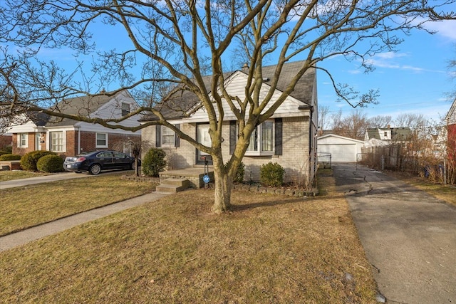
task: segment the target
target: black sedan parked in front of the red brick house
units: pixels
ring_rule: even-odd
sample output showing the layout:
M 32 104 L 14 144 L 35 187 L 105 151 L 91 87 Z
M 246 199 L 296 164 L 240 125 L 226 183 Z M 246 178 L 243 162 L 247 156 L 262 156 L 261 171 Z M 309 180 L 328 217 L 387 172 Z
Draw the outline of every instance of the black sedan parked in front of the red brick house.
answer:
M 138 166 L 140 160 L 138 159 Z M 90 174 L 99 174 L 101 170 L 108 169 L 135 169 L 135 158 L 125 153 L 103 150 L 80 154 L 75 157 L 66 157 L 63 162 L 66 171 L 81 173 L 88 171 Z

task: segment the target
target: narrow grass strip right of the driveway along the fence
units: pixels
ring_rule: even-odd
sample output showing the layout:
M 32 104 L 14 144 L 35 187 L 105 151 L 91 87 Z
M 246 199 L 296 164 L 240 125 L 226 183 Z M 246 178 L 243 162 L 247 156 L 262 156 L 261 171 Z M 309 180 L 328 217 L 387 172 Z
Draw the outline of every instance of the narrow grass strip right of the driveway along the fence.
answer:
M 456 187 L 450 184 L 435 184 L 429 180 L 403 172 L 384 172 L 392 177 L 402 180 L 407 184 L 435 196 L 437 199 L 456 205 Z

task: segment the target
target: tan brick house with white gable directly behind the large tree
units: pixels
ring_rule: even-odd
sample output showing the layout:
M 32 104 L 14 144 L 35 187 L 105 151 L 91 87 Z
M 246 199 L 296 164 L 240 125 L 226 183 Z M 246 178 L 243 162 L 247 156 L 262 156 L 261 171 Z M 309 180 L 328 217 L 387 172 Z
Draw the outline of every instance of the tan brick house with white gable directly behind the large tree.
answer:
M 286 63 L 280 75 L 277 85 L 283 90 L 289 80 L 296 75 L 302 62 Z M 264 90 L 268 90 L 268 81 L 274 76 L 275 65 L 263 68 Z M 207 77 L 204 80 L 209 80 Z M 247 74 L 242 70 L 227 75 L 225 78 L 226 88 L 230 95 L 243 98 Z M 206 83 L 210 90 L 210 83 Z M 189 103 L 193 100 L 193 104 Z M 186 114 L 167 111 L 165 108 L 162 114 L 168 121 L 180 127 L 182 132 L 192 136 L 200 143 L 210 146 L 208 134 L 209 123 L 204 108 L 197 108 L 195 96 L 185 92 L 182 97 L 176 98 L 175 105 L 182 102 L 182 108 L 189 109 Z M 228 159 L 234 151 L 237 140 L 237 120 L 232 110 L 225 103 L 222 144 L 224 159 Z M 244 179 L 254 182 L 259 181 L 259 169 L 262 164 L 277 162 L 286 170 L 285 182 L 308 184 L 314 179 L 316 172 L 316 132 L 317 123 L 317 95 L 316 95 L 316 70 L 308 70 L 293 93 L 275 111 L 274 115 L 257 127 L 257 132 L 252 135 L 251 145 L 247 150 L 242 162 L 245 165 Z M 155 115 L 145 115 L 140 121 L 147 122 L 157 120 Z M 202 152 L 190 145 L 185 140 L 180 140 L 167 127 L 150 126 L 142 130 L 142 142 L 148 142 L 151 147 L 160 147 L 165 150 L 168 157 L 168 169 L 183 169 L 195 165 L 204 164 Z

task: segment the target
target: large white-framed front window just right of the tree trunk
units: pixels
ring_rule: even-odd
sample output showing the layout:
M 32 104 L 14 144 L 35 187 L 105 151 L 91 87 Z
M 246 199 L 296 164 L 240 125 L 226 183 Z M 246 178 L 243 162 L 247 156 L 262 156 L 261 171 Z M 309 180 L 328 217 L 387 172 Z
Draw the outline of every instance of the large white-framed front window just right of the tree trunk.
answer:
M 274 152 L 274 122 L 266 121 L 257 126 L 250 136 L 247 155 L 271 154 Z

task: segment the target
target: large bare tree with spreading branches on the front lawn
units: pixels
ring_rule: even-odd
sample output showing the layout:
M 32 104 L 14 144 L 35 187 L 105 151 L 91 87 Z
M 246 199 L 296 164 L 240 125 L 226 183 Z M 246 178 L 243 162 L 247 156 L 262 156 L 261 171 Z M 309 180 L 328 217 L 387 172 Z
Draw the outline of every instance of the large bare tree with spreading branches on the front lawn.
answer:
M 353 107 L 375 103 L 375 90 L 353 90 L 338 83 L 330 70 L 317 64 L 333 56 L 345 56 L 348 60 L 359 60 L 363 68 L 371 70 L 368 56 L 394 51 L 403 41 L 403 33 L 423 28 L 429 20 L 455 19 L 455 13 L 445 12 L 454 2 L 3 0 L 1 115 L 35 110 L 132 131 L 150 125 L 169 127 L 198 150 L 212 155 L 216 182 L 212 209 L 222 212 L 230 207 L 232 179 L 255 126 L 274 114 L 306 70 L 318 68 L 327 73 L 339 98 Z M 105 26 L 106 31 L 115 28 L 115 35 L 128 37 L 130 43 L 100 51 L 93 32 L 95 23 Z M 6 46 L 13 46 L 11 49 L 19 53 L 6 52 Z M 71 71 L 62 70 L 52 61 L 38 60 L 41 53 L 63 46 L 71 48 L 76 56 L 93 56 L 93 74 L 88 74 L 82 60 L 80 69 Z M 243 99 L 229 95 L 225 88 L 224 64 L 234 51 L 239 61 L 249 65 Z M 275 95 L 284 64 L 303 58 L 296 75 L 287 80 L 286 89 Z M 269 61 L 276 63 L 274 78 L 268 83 L 269 91 L 260 94 L 261 70 Z M 138 65 L 142 66 L 141 73 L 135 72 Z M 78 71 L 83 80 L 74 77 Z M 211 75 L 209 90 L 204 75 Z M 145 103 L 125 117 L 105 120 L 66 115 L 50 107 L 73 95 L 100 94 L 100 88 L 113 83 L 120 83 L 121 88 L 102 94 L 137 88 L 147 93 Z M 162 114 L 165 107 L 188 110 L 180 109 L 167 98 L 173 95 L 168 93 L 177 91 L 197 96 L 195 106 L 203 107 L 207 113 L 210 147 L 195 141 Z M 226 114 L 222 104 L 229 105 L 239 125 L 237 145 L 229 159 L 222 156 Z M 137 127 L 120 125 L 145 110 L 158 119 Z

